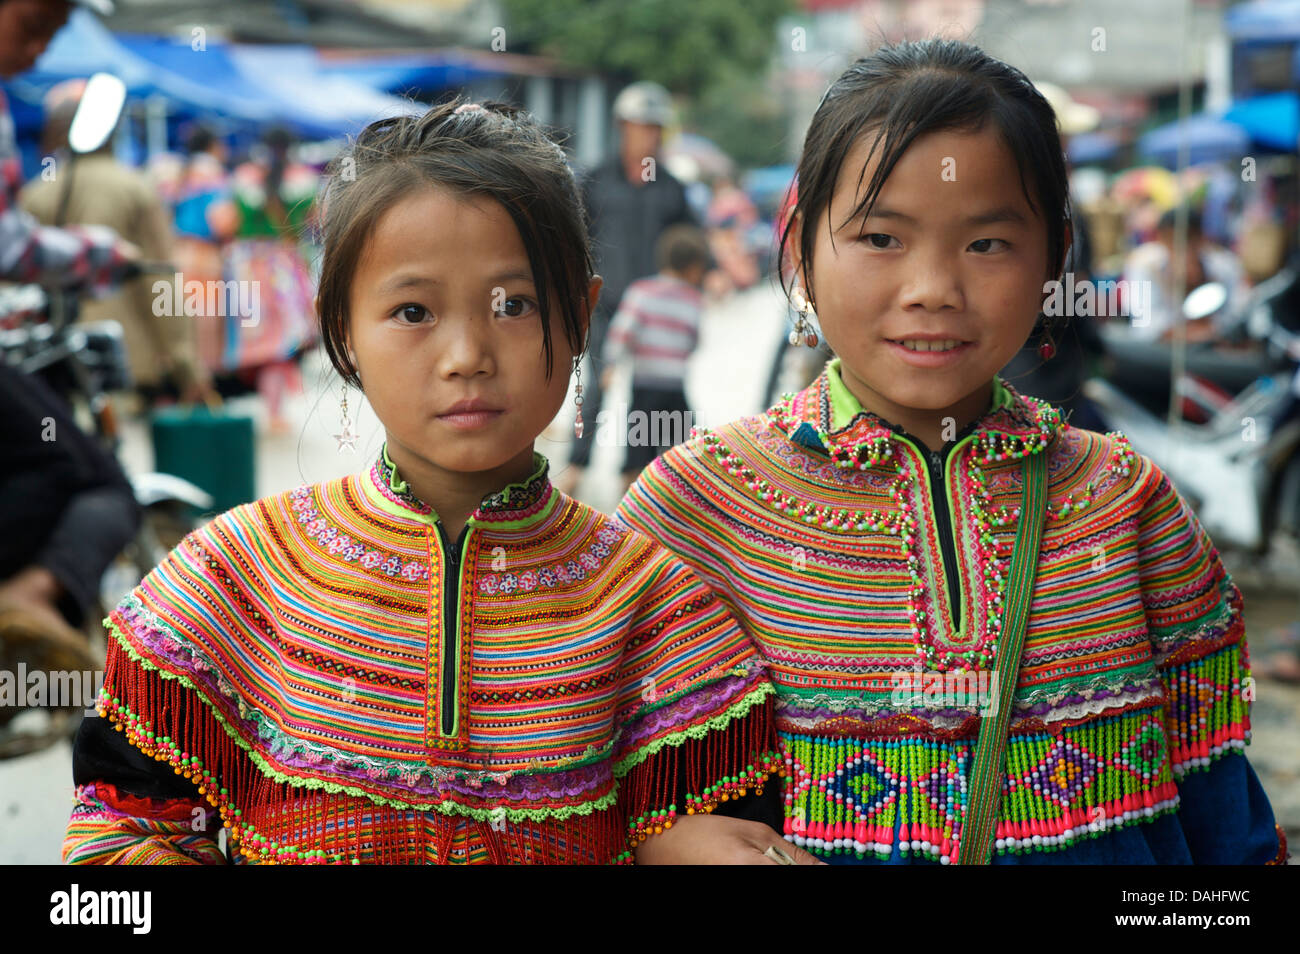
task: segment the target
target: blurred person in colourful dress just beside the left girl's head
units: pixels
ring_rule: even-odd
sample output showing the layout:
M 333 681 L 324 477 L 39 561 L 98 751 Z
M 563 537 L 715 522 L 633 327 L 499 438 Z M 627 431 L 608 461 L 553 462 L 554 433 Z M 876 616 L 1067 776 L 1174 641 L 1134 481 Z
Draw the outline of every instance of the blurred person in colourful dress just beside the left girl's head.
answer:
M 302 354 L 316 343 L 311 270 L 299 243 L 316 198 L 317 175 L 289 157 L 292 136 L 270 129 L 265 155 L 231 177 L 235 239 L 226 248 L 226 278 L 257 290 L 259 313 L 228 318 L 228 364 L 252 370 L 266 404 L 269 432 L 285 434 L 285 395 L 300 394 Z

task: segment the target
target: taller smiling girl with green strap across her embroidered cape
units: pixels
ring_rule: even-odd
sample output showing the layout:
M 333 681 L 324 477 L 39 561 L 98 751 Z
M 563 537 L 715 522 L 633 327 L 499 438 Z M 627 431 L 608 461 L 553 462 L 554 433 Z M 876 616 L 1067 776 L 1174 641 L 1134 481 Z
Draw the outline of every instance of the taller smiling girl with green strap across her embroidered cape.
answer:
M 776 682 L 784 792 L 725 811 L 831 863 L 1282 862 L 1214 545 L 1121 433 L 998 376 L 1070 244 L 1052 108 L 972 45 L 885 47 L 797 182 L 789 291 L 836 357 L 619 508 Z

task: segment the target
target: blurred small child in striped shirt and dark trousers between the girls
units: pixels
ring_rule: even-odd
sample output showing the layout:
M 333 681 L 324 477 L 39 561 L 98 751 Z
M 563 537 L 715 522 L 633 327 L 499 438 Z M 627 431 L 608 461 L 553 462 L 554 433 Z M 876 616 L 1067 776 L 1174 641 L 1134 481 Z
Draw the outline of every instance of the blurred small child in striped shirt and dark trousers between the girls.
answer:
M 604 361 L 615 365 L 632 359 L 629 438 L 623 459 L 627 493 L 646 464 L 679 445 L 690 433 L 686 403 L 686 363 L 699 344 L 701 289 L 712 266 L 708 239 L 693 225 L 675 225 L 655 243 L 659 273 L 638 278 L 623 292 L 619 311 L 604 341 Z M 607 369 L 608 370 L 608 369 Z M 633 422 L 662 422 L 644 429 L 633 441 Z

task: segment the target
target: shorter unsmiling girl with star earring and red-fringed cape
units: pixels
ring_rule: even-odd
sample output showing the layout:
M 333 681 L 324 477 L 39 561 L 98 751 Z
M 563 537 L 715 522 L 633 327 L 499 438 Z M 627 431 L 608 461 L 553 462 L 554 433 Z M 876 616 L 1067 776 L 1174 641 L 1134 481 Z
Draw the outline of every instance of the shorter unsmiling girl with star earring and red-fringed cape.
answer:
M 601 289 L 563 151 L 448 103 L 332 172 L 321 330 L 384 446 L 113 611 L 65 858 L 220 863 L 224 823 L 252 863 L 815 863 L 711 815 L 780 767 L 736 620 L 533 450 Z

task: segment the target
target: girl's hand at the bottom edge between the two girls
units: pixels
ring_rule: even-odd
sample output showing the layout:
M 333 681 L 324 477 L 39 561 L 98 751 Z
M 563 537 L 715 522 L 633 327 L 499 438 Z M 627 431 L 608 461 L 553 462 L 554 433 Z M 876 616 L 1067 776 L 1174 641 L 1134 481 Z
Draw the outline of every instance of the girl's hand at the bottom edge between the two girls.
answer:
M 672 828 L 646 838 L 636 850 L 637 864 L 781 864 L 763 854 L 784 851 L 796 864 L 824 864 L 796 847 L 762 821 L 723 815 L 679 816 Z

